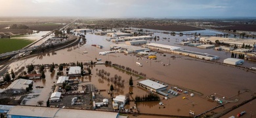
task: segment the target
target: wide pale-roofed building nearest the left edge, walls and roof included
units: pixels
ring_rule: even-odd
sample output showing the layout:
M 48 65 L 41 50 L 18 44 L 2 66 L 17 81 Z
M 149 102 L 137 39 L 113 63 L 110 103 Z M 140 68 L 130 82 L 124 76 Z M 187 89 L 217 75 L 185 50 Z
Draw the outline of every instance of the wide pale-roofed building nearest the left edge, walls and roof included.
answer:
M 28 79 L 16 79 L 7 87 L 7 90 L 4 92 L 6 93 L 20 93 L 20 92 L 26 92 L 26 88 L 28 85 L 33 85 L 32 80 Z

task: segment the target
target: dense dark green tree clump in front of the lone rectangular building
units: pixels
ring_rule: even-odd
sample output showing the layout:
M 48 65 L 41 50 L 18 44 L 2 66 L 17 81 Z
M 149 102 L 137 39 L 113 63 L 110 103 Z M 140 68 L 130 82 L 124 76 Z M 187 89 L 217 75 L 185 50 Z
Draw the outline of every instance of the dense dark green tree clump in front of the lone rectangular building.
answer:
M 135 96 L 135 102 L 143 101 L 160 101 L 160 97 L 156 94 L 150 93 L 143 96 Z

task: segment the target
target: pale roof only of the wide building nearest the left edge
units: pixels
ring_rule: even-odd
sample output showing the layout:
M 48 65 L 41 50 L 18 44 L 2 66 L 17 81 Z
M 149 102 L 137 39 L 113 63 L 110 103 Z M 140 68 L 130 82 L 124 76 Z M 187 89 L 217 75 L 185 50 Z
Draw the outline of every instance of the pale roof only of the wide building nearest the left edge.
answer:
M 7 87 L 7 89 L 26 89 L 26 87 L 28 87 L 28 85 L 31 83 L 33 83 L 32 80 L 16 79 L 11 83 L 11 85 L 9 85 L 9 87 Z

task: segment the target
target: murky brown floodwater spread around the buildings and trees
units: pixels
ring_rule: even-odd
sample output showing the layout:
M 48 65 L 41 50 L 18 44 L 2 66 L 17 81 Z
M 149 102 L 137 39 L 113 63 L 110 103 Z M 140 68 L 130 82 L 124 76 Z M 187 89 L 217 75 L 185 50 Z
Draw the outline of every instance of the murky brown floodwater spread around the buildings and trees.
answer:
M 217 60 L 217 62 L 223 62 L 224 58 L 228 58 L 231 55 L 230 53 L 223 51 L 212 49 L 197 49 L 195 47 L 178 45 L 182 39 L 187 39 L 190 36 L 171 36 L 163 33 L 154 33 L 154 35 L 159 35 L 160 40 L 152 40 L 149 42 L 174 45 L 177 47 L 182 47 L 186 50 L 194 50 L 221 56 L 221 60 Z M 163 37 L 167 37 L 167 39 L 163 39 Z M 179 87 L 195 90 L 203 94 L 203 96 L 195 97 L 185 95 L 188 97 L 186 100 L 182 100 L 182 96 L 184 96 L 184 94 L 176 98 L 172 98 L 171 100 L 163 100 L 163 104 L 166 104 L 165 108 L 161 108 L 158 102 L 139 103 L 138 108 L 143 113 L 188 115 L 188 110 L 192 109 L 199 114 L 216 106 L 215 103 L 207 102 L 205 96 L 217 93 L 230 97 L 234 96 L 234 94 L 237 94 L 238 90 L 248 89 L 253 92 L 256 91 L 255 71 L 246 71 L 244 69 L 223 66 L 214 62 L 205 62 L 204 60 L 198 60 L 179 54 L 165 54 L 166 56 L 163 56 L 163 54 L 157 54 L 157 60 L 148 60 L 146 58 L 137 60 L 137 57 L 133 56 L 133 54 L 125 55 L 116 53 L 107 54 L 106 56 L 98 55 L 98 52 L 109 50 L 110 45 L 114 44 L 112 42 L 106 41 L 106 38 L 109 37 L 87 33 L 87 42 L 81 47 L 77 45 L 75 47 L 58 50 L 55 51 L 56 54 L 55 52 L 41 53 L 38 56 L 33 56 L 31 58 L 26 58 L 24 60 L 14 62 L 10 66 L 13 69 L 17 69 L 17 66 L 26 66 L 28 64 L 52 64 L 53 62 L 54 64 L 62 64 L 77 61 L 87 62 L 90 60 L 95 60 L 96 58 L 101 58 L 102 62 L 110 60 L 112 61 L 112 64 L 120 64 L 122 66 L 135 69 L 139 72 L 146 73 L 147 78 L 158 79 L 159 81 L 167 83 L 168 85 L 177 85 Z M 92 47 L 91 45 L 93 44 L 102 45 L 104 48 L 98 49 L 96 47 Z M 83 54 L 83 51 L 87 51 L 88 53 Z M 176 58 L 170 58 L 171 56 L 176 56 Z M 140 62 L 143 66 L 137 66 L 135 64 L 136 62 Z M 163 66 L 163 64 L 170 64 L 170 66 Z M 249 67 L 253 64 L 255 65 L 256 63 L 248 62 L 245 60 L 244 66 Z M 100 90 L 109 90 L 111 82 L 108 82 L 107 79 L 102 79 L 96 75 L 96 69 L 104 69 L 105 71 L 110 72 L 110 77 L 114 77 L 114 75 L 117 74 L 120 75 L 123 80 L 125 80 L 125 87 L 114 87 L 117 90 L 116 94 L 126 94 L 132 90 L 134 93 L 132 96 L 135 98 L 137 95 L 142 96 L 143 94 L 147 93 L 146 90 L 142 90 L 141 88 L 136 87 L 137 81 L 140 81 L 141 79 L 137 80 L 135 76 L 133 76 L 133 80 L 136 80 L 133 84 L 135 87 L 129 88 L 129 77 L 131 75 L 127 75 L 123 71 L 119 71 L 104 65 L 96 65 L 91 69 L 93 75 L 91 75 L 91 77 L 85 77 L 84 79 L 81 79 L 81 81 L 83 81 L 81 85 L 93 84 Z M 47 71 L 49 71 L 49 69 L 47 69 Z M 56 79 L 54 79 L 54 75 L 49 76 L 50 73 L 46 73 L 46 75 L 47 79 L 45 79 L 44 82 L 43 80 L 35 82 L 35 84 L 43 85 L 43 87 L 45 87 L 41 92 L 38 90 L 38 92 L 41 94 L 39 96 L 40 100 L 45 100 L 45 98 L 49 97 L 51 86 L 54 85 L 53 81 L 56 81 Z M 103 94 L 103 96 L 106 98 L 110 98 L 107 92 L 102 92 L 101 94 Z M 28 102 L 28 104 L 32 105 L 35 105 L 34 103 L 35 101 Z

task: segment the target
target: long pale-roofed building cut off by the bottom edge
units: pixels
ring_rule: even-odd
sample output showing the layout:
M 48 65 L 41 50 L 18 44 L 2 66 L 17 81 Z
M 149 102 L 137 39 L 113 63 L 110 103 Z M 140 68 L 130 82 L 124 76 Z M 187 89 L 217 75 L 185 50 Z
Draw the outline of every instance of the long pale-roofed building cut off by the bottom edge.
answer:
M 63 108 L 45 108 L 45 107 L 35 107 L 35 106 L 15 106 L 7 113 L 8 118 L 51 118 L 51 117 L 61 117 L 61 118 L 119 118 L 119 113 L 111 111 L 92 111 L 83 109 L 63 109 Z

